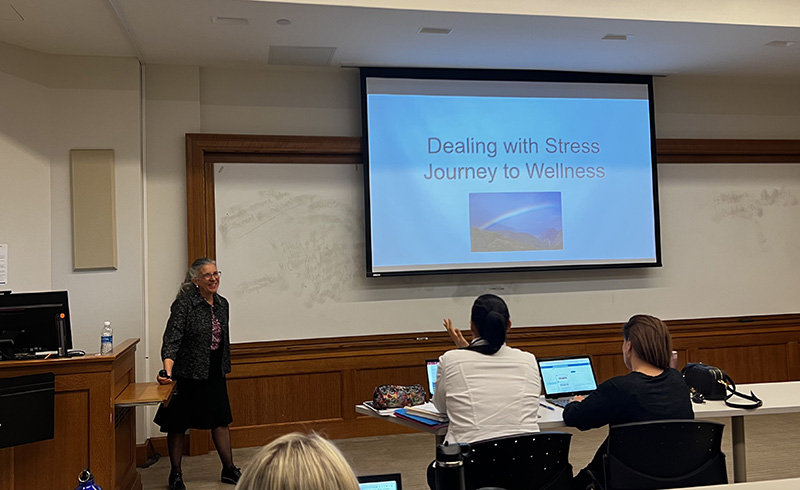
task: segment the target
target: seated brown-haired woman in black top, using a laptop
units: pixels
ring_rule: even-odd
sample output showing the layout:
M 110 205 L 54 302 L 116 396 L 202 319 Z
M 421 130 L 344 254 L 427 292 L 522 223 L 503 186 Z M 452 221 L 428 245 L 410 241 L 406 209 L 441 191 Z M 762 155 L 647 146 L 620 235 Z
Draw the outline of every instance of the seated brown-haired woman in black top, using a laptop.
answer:
M 580 430 L 647 420 L 693 419 L 689 388 L 680 372 L 669 367 L 672 339 L 658 318 L 635 315 L 622 327 L 622 358 L 631 370 L 608 379 L 586 397 L 576 396 L 564 407 L 564 423 Z M 573 480 L 585 489 L 604 481 L 603 454 L 608 439 Z

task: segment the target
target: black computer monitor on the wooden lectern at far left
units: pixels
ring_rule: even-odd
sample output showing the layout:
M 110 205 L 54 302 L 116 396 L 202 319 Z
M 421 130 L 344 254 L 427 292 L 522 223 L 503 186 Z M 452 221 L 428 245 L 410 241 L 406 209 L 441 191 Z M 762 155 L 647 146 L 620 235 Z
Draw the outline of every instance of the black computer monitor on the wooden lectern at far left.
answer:
M 72 348 L 66 291 L 0 294 L 0 348 L 6 353 L 59 350 L 56 319 L 64 314 L 64 352 Z

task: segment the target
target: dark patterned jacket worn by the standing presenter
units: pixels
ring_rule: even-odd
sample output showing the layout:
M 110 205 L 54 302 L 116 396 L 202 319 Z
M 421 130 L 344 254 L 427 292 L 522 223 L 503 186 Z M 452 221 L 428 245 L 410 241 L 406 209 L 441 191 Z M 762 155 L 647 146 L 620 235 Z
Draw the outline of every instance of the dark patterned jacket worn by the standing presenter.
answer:
M 181 293 L 170 307 L 161 359 L 172 359 L 173 378 L 208 379 L 211 364 L 211 305 L 196 288 Z M 214 293 L 214 316 L 222 328 L 222 374 L 231 372 L 228 300 Z

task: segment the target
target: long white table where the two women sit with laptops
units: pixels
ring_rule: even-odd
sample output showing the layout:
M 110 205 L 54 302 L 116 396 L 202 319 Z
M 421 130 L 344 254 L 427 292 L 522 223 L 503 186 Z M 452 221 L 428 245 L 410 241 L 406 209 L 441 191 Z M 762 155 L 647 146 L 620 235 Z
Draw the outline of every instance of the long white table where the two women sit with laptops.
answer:
M 734 482 L 747 481 L 747 461 L 745 447 L 745 417 L 756 415 L 773 415 L 781 413 L 800 412 L 800 381 L 786 381 L 779 383 L 753 383 L 737 385 L 739 392 L 749 394 L 752 390 L 764 404 L 754 410 L 732 408 L 725 405 L 722 400 L 706 401 L 703 404 L 693 403 L 695 418 L 707 419 L 718 417 L 731 418 L 731 439 L 733 441 L 733 480 Z M 746 400 L 737 399 L 735 402 L 746 403 Z M 558 429 L 565 427 L 562 418 L 563 410 L 560 407 L 543 403 L 539 407 L 539 428 L 542 430 Z M 552 409 L 552 410 L 551 410 Z M 356 405 L 356 412 L 377 417 L 387 422 L 412 427 L 423 432 L 430 432 L 436 436 L 436 443 L 441 444 L 447 435 L 447 427 L 428 429 L 421 424 L 410 422 L 394 415 L 380 415 L 363 405 Z

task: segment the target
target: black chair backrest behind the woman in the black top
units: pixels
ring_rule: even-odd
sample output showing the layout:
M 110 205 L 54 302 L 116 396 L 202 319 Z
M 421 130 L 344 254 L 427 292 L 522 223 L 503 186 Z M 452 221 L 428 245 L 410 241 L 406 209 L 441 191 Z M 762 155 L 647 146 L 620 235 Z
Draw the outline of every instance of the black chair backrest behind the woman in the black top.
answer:
M 604 456 L 606 490 L 682 488 L 728 483 L 722 430 L 707 420 L 614 425 Z

